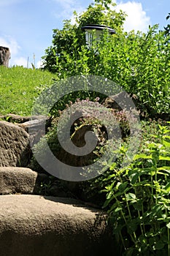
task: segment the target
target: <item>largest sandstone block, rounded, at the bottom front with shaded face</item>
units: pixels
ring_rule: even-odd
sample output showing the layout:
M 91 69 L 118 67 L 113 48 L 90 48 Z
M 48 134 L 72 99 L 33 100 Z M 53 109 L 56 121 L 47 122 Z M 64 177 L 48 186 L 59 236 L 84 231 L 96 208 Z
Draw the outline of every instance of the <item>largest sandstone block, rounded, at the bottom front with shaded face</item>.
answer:
M 118 255 L 106 214 L 77 200 L 0 196 L 1 256 Z

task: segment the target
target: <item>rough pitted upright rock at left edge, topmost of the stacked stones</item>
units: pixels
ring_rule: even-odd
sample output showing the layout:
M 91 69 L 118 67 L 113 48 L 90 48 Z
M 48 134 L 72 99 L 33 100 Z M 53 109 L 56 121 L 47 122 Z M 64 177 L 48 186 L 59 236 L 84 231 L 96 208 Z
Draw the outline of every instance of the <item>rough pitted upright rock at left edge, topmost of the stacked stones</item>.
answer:
M 24 129 L 0 121 L 0 166 L 26 167 L 31 156 L 28 138 Z

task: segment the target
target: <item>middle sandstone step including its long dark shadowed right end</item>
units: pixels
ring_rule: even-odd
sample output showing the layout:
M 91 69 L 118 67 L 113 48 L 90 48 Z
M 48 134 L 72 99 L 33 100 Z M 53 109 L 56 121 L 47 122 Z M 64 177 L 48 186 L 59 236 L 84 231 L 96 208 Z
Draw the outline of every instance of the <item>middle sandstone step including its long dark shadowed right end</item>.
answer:
M 45 173 L 36 173 L 27 167 L 0 167 L 0 195 L 52 195 L 73 197 L 69 187 L 51 180 Z M 1 254 L 0 254 L 1 255 Z

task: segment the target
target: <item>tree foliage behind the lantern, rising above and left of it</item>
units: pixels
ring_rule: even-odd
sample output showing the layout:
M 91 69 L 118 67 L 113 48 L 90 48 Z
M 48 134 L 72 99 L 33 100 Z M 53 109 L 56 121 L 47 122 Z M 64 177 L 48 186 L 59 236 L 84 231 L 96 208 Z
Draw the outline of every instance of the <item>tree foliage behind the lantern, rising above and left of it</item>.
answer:
M 58 72 L 60 66 L 64 67 L 69 57 L 80 58 L 78 52 L 82 51 L 85 45 L 85 34 L 81 30 L 87 24 L 104 24 L 115 30 L 120 30 L 125 20 L 123 12 L 116 12 L 112 7 L 112 1 L 98 0 L 95 4 L 90 4 L 85 12 L 74 12 L 75 23 L 71 20 L 63 20 L 63 29 L 53 29 L 52 45 L 45 50 L 45 69 L 51 72 Z M 113 10 L 112 10 L 113 9 Z

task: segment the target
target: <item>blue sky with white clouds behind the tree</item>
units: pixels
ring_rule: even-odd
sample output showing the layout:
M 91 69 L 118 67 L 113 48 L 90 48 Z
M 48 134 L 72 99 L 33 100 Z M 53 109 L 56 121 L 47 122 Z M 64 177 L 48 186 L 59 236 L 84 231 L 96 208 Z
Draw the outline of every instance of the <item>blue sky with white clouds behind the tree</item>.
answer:
M 53 29 L 62 29 L 74 10 L 84 11 L 93 0 L 0 0 L 0 45 L 10 48 L 9 66 L 39 67 L 52 44 Z M 125 30 L 147 31 L 149 25 L 166 26 L 169 0 L 117 0 L 117 10 L 127 12 Z

